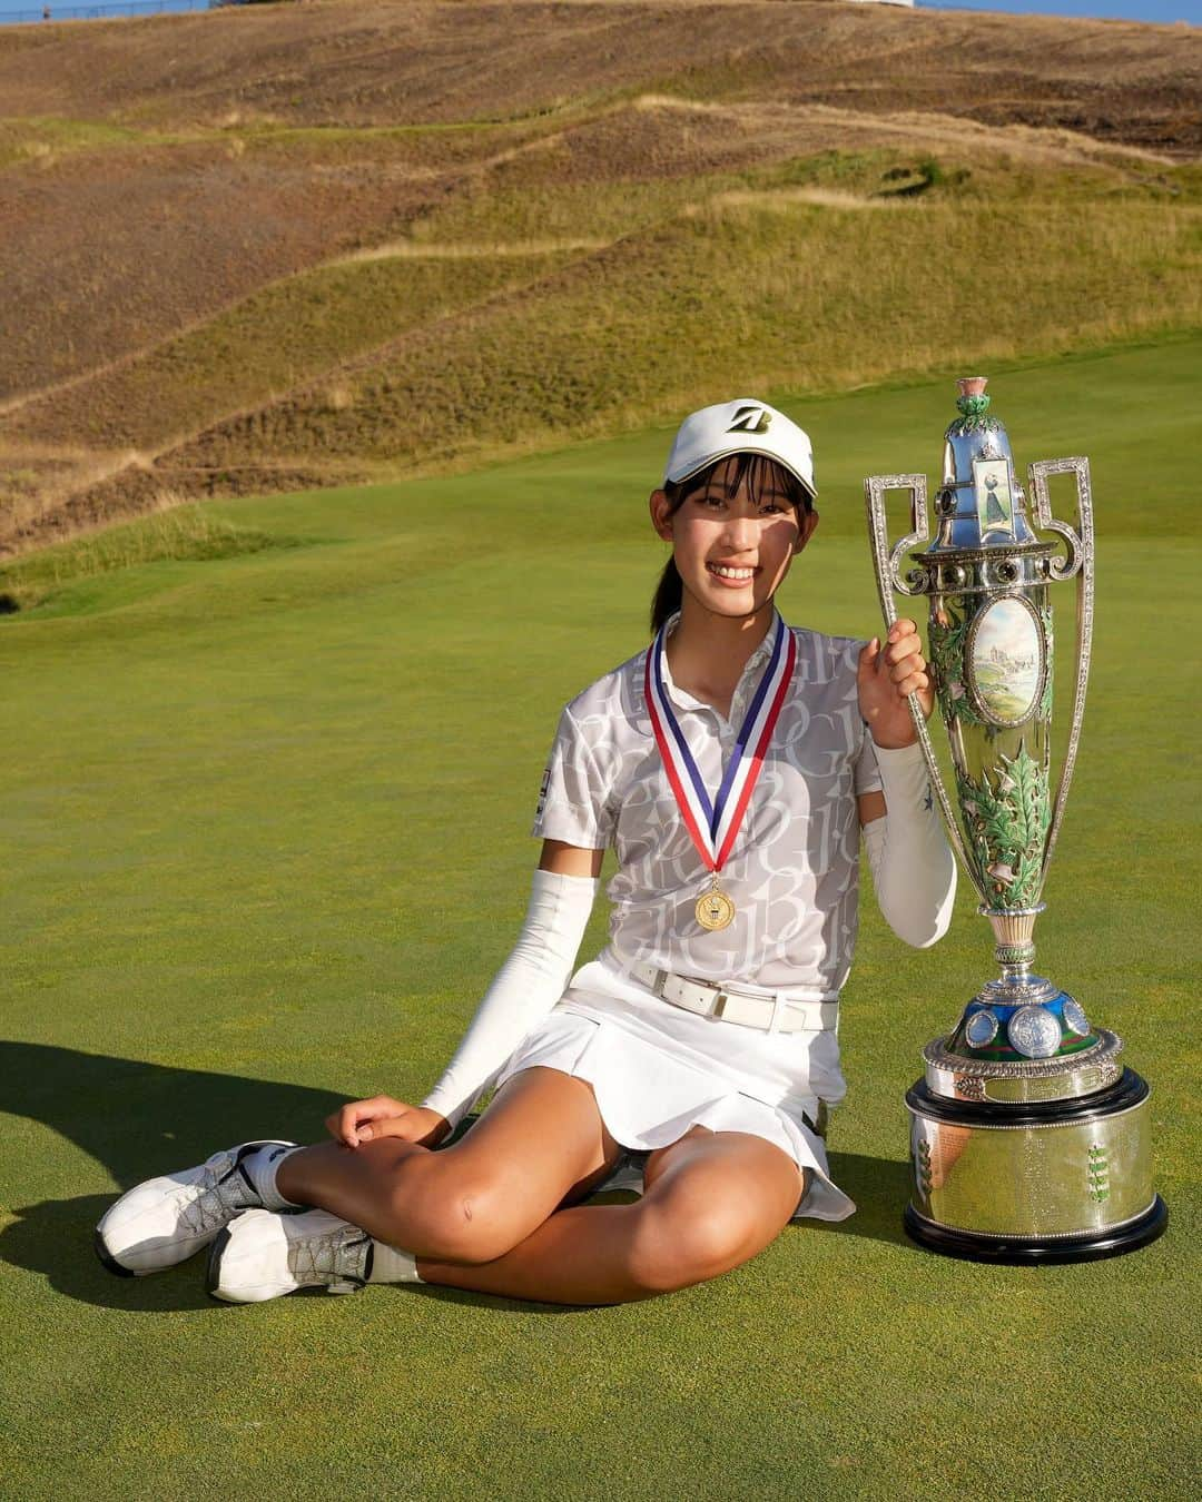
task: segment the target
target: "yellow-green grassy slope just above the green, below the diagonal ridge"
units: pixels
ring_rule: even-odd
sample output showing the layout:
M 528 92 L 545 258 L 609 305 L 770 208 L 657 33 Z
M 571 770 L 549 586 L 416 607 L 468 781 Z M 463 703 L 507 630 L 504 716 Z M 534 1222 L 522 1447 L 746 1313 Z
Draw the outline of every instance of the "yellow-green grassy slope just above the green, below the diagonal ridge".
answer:
M 347 371 L 338 412 L 320 389 L 288 398 L 164 470 L 264 449 L 428 463 L 666 421 L 730 389 L 813 394 L 1196 326 L 1199 227 L 1196 210 L 1125 197 L 1103 212 L 1017 194 L 912 209 L 730 195 L 415 330 Z

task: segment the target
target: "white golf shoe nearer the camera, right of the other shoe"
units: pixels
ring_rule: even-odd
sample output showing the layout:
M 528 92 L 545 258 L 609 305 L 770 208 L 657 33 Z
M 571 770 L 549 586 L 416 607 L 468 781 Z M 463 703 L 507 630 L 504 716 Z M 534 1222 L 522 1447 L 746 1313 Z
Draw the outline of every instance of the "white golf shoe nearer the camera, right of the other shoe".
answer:
M 209 1292 L 227 1304 L 260 1304 L 300 1289 L 358 1293 L 371 1277 L 373 1241 L 328 1211 L 246 1211 L 213 1242 Z

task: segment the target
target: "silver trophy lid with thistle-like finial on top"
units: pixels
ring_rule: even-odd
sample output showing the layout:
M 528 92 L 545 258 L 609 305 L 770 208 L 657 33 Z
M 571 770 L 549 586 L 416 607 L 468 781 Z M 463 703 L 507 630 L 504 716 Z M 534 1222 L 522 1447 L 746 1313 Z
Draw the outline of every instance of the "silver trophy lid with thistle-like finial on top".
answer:
M 989 410 L 987 385 L 987 376 L 963 376 L 956 383 L 960 416 L 944 434 L 939 530 L 929 553 L 1037 542 L 1026 523 L 1010 437 Z

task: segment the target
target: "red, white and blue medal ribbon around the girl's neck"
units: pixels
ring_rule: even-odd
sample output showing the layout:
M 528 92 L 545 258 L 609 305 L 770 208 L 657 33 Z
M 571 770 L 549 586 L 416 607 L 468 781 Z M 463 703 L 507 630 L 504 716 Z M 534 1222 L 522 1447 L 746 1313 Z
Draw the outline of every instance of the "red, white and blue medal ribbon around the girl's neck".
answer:
M 664 759 L 664 771 L 684 816 L 685 829 L 688 829 L 706 871 L 717 876 L 726 865 L 726 858 L 730 855 L 751 801 L 751 790 L 763 771 L 763 757 L 784 706 L 789 682 L 793 677 L 793 664 L 798 655 L 796 641 L 793 632 L 777 616 L 768 668 L 735 737 L 735 748 L 727 762 L 718 796 L 711 802 L 700 769 L 688 749 L 688 742 L 664 688 L 666 631 L 667 628 L 661 626 L 648 647 L 643 670 L 643 692 L 651 715 L 651 728 L 660 756 Z

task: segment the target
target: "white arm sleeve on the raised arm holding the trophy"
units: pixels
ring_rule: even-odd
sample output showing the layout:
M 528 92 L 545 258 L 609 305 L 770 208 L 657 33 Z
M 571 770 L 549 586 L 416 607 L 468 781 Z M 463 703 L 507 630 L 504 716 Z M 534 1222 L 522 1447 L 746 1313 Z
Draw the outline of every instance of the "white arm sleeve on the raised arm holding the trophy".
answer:
M 956 858 L 935 808 L 923 748 L 874 749 L 888 810 L 864 826 L 876 903 L 898 939 L 926 949 L 951 922 Z

